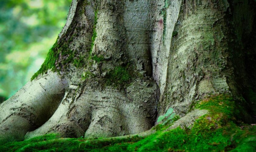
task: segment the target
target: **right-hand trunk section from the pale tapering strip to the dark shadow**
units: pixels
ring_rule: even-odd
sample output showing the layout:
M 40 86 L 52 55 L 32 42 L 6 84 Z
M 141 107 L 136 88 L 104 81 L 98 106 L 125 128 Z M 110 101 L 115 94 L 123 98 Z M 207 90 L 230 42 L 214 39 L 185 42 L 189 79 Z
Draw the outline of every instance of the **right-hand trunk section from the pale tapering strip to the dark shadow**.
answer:
M 242 104 L 240 97 L 249 96 L 248 88 L 255 92 L 255 87 L 250 85 L 255 83 L 255 79 L 251 79 L 255 74 L 246 72 L 255 65 L 255 47 L 243 50 L 245 45 L 252 45 L 249 39 L 254 36 L 254 2 L 173 0 L 158 3 L 157 10 L 162 13 L 155 15 L 151 52 L 153 77 L 161 92 L 160 114 L 172 107 L 184 116 L 193 101 L 210 94 L 232 93 Z M 255 109 L 254 100 L 243 104 Z M 253 121 L 251 116 L 247 117 Z

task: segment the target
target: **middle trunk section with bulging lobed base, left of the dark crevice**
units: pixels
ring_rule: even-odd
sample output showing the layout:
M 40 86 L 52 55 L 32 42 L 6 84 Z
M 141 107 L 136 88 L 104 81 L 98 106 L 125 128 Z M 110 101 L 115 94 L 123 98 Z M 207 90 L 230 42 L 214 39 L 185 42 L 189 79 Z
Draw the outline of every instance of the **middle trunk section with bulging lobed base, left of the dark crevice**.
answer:
M 91 42 L 91 35 L 85 36 L 79 29 L 79 33 L 72 33 L 68 48 L 84 51 L 87 65 L 74 67 L 72 63 L 65 65 L 66 62 L 63 65 L 69 56 L 58 61 L 57 68 L 69 81 L 69 88 L 53 116 L 37 130 L 27 133 L 26 138 L 46 133 L 59 133 L 64 137 L 112 137 L 149 130 L 156 119 L 158 92 L 156 83 L 150 78 L 151 2 L 108 0 L 77 3 L 76 12 L 84 10 L 83 6 L 89 11 L 79 12 L 82 15 L 77 16 L 83 18 L 74 18 L 72 22 L 76 23 L 71 23 L 67 29 L 75 33 L 77 28 L 84 28 L 97 36 Z M 138 13 L 141 11 L 142 14 Z M 90 21 L 92 19 L 94 22 Z M 81 20 L 84 27 L 72 27 Z M 69 41 L 66 35 L 62 37 Z M 88 40 L 89 43 L 81 45 L 75 37 L 82 37 L 81 42 Z M 91 43 L 91 48 L 86 47 Z M 67 72 L 67 69 L 74 72 Z M 85 80 L 81 75 L 79 77 L 77 69 Z M 128 79 L 123 80 L 126 77 Z

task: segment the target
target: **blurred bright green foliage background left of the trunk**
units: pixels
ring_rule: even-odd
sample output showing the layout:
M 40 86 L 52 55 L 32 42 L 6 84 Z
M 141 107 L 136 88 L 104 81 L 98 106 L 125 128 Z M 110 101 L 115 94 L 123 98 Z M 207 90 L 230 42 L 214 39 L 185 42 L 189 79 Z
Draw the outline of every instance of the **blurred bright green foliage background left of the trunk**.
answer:
M 0 103 L 39 70 L 71 0 L 0 0 Z

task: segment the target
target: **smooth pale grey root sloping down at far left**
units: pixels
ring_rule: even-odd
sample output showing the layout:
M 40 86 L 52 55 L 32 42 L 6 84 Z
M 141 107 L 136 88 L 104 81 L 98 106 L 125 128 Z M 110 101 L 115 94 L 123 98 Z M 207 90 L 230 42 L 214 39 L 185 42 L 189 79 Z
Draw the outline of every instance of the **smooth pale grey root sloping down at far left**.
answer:
M 0 142 L 23 140 L 28 131 L 44 124 L 55 112 L 67 83 L 49 72 L 28 82 L 0 106 Z

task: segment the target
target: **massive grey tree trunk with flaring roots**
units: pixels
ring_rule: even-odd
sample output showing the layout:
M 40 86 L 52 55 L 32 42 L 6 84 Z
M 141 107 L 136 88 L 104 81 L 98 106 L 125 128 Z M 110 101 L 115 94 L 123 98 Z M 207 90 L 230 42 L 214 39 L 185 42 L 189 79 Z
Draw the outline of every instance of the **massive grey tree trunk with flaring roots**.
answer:
M 255 122 L 254 7 L 252 0 L 73 0 L 41 69 L 1 104 L 1 142 L 140 133 L 169 107 L 185 116 L 212 94 L 232 94 L 247 109 L 242 119 Z

